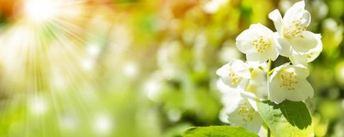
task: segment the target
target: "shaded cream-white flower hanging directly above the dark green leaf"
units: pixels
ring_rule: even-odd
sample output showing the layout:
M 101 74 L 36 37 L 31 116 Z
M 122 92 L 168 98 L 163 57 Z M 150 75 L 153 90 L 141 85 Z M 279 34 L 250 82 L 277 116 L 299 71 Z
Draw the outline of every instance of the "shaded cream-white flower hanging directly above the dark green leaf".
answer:
M 268 83 L 271 101 L 275 103 L 281 103 L 285 99 L 303 101 L 313 97 L 313 88 L 306 80 L 308 75 L 308 69 L 301 64 L 286 63 L 275 68 Z

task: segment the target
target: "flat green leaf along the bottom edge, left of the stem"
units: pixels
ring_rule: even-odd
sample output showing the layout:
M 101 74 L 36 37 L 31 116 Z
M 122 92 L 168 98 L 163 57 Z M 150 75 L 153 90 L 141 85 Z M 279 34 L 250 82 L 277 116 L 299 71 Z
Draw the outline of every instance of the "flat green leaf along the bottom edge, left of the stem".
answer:
M 184 137 L 257 137 L 258 135 L 236 126 L 192 127 L 186 130 Z

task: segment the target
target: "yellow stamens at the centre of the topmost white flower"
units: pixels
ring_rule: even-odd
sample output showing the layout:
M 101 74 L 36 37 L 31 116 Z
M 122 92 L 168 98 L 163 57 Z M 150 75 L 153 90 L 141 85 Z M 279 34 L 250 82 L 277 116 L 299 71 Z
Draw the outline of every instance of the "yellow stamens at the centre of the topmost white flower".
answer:
M 283 34 L 287 38 L 304 38 L 301 32 L 304 32 L 307 27 L 304 27 L 301 22 L 302 18 L 294 20 L 291 25 L 284 27 Z

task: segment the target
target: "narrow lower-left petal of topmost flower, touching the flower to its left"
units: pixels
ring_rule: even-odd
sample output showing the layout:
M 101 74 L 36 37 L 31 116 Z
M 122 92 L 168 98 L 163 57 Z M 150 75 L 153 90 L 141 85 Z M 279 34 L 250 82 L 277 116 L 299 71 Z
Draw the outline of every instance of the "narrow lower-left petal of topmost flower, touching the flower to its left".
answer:
M 291 44 L 289 44 L 288 40 L 286 40 L 283 37 L 280 37 L 277 32 L 273 34 L 273 41 L 275 42 L 275 45 L 278 49 L 278 53 L 280 55 L 283 55 L 284 57 L 291 56 L 292 53 L 292 47 Z

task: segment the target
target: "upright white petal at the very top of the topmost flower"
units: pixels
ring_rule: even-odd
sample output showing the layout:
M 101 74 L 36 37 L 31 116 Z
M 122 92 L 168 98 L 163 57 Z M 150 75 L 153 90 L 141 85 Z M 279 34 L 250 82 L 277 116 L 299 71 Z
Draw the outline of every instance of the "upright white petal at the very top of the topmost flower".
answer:
M 305 5 L 304 1 L 299 1 L 295 3 L 294 5 L 292 5 L 291 8 L 286 10 L 286 13 L 284 14 L 284 17 L 283 17 L 284 25 L 288 25 L 291 22 L 293 22 L 294 19 L 297 18 L 296 15 L 304 11 L 304 5 Z

